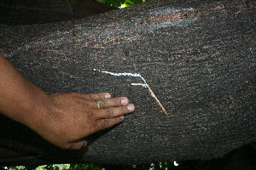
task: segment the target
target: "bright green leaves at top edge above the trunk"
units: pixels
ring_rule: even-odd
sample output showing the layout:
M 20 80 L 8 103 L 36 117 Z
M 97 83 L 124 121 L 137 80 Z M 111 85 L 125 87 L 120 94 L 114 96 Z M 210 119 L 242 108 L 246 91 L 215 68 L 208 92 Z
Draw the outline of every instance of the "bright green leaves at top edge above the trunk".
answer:
M 96 0 L 99 3 L 105 3 L 107 5 L 119 8 L 130 7 L 137 3 L 144 3 L 147 0 Z

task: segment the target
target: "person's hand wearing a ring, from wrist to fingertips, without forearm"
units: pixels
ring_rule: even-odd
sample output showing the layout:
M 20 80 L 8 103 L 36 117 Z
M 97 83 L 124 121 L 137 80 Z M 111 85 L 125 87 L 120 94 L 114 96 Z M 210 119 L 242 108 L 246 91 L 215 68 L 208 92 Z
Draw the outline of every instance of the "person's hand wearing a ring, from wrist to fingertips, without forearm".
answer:
M 102 94 L 51 94 L 51 105 L 32 129 L 62 149 L 78 150 L 87 144 L 84 137 L 112 127 L 134 111 L 125 97 Z M 102 102 L 98 108 L 96 100 Z

